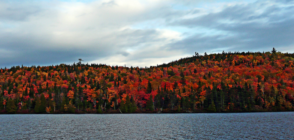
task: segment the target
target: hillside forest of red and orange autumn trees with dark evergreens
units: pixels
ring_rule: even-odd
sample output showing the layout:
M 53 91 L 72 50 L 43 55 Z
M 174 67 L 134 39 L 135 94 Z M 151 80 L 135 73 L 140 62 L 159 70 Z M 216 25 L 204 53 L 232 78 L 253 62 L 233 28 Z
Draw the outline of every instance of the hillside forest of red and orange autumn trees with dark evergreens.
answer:
M 81 60 L 81 59 L 79 59 Z M 222 52 L 150 67 L 0 69 L 0 114 L 294 111 L 294 54 Z

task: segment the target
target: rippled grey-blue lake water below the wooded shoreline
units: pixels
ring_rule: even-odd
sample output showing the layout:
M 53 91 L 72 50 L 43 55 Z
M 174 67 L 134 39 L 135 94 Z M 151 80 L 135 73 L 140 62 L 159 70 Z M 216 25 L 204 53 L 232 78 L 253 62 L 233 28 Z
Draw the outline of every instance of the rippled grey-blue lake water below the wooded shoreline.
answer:
M 294 139 L 294 112 L 0 115 L 0 139 Z

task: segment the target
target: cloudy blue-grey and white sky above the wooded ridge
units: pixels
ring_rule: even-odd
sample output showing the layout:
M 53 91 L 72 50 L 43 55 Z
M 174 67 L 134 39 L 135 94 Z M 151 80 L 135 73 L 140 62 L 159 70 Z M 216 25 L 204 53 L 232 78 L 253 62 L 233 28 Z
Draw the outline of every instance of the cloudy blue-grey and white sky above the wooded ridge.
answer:
M 294 52 L 294 1 L 0 0 L 0 67 L 153 66 L 195 52 Z

